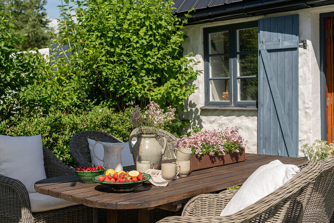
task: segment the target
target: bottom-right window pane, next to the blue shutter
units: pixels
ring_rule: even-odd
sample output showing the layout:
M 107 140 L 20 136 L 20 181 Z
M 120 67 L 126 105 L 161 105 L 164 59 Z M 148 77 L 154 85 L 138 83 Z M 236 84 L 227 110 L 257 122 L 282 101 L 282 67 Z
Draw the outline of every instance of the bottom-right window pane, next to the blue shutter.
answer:
M 258 79 L 238 79 L 238 101 L 258 100 Z

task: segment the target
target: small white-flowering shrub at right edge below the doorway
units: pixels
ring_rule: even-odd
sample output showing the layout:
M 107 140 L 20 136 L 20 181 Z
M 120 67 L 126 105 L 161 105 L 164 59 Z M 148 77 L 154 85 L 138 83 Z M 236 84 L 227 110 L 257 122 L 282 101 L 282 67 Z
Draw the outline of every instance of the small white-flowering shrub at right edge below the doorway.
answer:
M 334 153 L 334 144 L 327 145 L 325 140 L 315 140 L 312 144 L 306 143 L 300 149 L 309 160 L 323 160 Z

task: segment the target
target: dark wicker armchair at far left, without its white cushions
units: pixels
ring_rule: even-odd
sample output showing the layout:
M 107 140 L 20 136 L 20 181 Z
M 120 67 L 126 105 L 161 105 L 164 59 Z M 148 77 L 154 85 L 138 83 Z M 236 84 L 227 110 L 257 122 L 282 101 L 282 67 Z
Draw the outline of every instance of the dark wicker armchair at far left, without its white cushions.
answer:
M 64 165 L 49 149 L 44 146 L 43 155 L 45 174 L 47 178 L 74 174 L 74 170 L 72 168 Z M 26 187 L 19 180 L 0 175 L 1 223 L 91 223 L 93 221 L 97 222 L 97 216 L 95 213 L 96 212 L 93 208 L 84 205 L 74 205 L 51 211 L 32 213 Z

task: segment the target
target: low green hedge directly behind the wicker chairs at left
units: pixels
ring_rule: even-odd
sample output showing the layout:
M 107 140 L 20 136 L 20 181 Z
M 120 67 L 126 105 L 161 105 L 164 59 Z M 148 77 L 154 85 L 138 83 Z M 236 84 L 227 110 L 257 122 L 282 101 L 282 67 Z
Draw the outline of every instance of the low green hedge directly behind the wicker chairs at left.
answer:
M 133 126 L 130 125 L 132 109 L 115 112 L 108 107 L 95 107 L 91 111 L 75 112 L 70 115 L 56 110 L 49 115 L 26 115 L 12 127 L 0 127 L 0 134 L 10 136 L 42 135 L 43 145 L 48 147 L 63 163 L 74 166 L 69 151 L 71 137 L 80 131 L 96 130 L 128 141 Z

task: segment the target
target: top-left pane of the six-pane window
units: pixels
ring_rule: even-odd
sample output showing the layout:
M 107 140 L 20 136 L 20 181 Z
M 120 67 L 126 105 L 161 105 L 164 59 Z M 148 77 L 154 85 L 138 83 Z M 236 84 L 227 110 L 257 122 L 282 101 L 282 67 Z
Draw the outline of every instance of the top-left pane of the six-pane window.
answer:
M 209 54 L 228 53 L 228 31 L 209 34 Z

